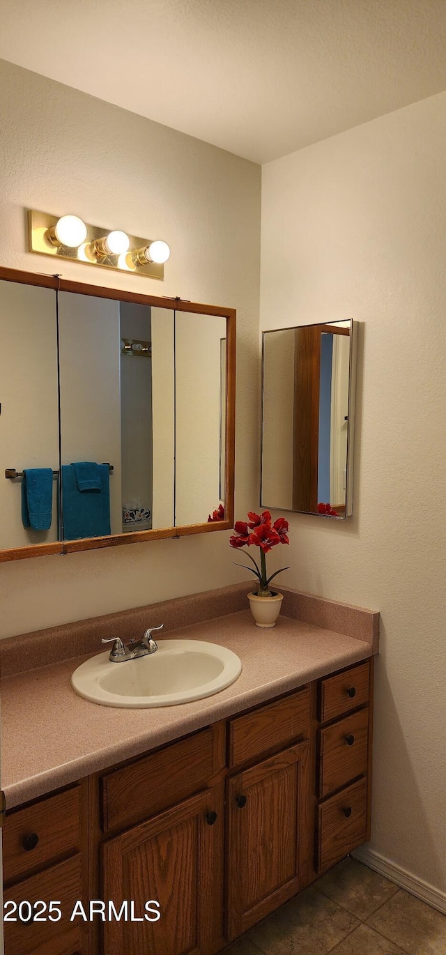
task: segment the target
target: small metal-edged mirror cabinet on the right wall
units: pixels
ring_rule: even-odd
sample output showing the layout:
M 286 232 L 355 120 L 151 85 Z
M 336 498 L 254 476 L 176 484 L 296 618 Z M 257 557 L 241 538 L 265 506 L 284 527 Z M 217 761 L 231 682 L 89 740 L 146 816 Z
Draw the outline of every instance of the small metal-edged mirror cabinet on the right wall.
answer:
M 264 507 L 352 513 L 356 323 L 263 334 Z

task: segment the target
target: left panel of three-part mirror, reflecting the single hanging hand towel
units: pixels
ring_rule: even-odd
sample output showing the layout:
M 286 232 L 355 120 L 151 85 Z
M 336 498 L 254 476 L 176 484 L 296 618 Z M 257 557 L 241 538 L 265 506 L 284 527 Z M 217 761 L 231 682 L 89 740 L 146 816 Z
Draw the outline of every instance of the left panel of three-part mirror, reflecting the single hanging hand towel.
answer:
M 0 282 L 0 328 L 0 548 L 10 549 L 58 540 L 53 289 Z

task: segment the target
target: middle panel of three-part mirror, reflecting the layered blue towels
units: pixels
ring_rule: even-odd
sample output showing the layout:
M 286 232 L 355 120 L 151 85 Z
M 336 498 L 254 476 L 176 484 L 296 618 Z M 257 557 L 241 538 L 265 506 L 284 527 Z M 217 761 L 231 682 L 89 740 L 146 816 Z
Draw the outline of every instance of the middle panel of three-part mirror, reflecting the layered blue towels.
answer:
M 64 539 L 174 520 L 173 311 L 59 293 Z

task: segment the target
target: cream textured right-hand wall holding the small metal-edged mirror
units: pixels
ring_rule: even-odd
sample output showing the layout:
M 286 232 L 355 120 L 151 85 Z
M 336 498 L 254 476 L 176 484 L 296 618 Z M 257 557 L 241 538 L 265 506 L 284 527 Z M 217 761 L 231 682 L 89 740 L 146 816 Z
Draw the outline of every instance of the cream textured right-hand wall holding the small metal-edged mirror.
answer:
M 361 323 L 354 517 L 283 580 L 381 611 L 372 848 L 443 892 L 445 152 L 441 94 L 266 165 L 261 282 L 263 329 Z

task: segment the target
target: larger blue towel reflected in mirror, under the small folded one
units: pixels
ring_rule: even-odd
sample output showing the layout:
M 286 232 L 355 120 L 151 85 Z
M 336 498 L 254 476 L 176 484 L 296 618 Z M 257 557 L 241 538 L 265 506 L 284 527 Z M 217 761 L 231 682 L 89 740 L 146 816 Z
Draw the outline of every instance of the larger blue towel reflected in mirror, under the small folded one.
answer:
M 106 537 L 110 528 L 110 472 L 98 464 L 100 490 L 79 491 L 74 464 L 62 465 L 62 528 L 65 541 Z

